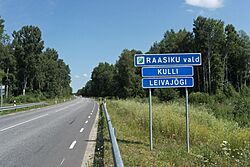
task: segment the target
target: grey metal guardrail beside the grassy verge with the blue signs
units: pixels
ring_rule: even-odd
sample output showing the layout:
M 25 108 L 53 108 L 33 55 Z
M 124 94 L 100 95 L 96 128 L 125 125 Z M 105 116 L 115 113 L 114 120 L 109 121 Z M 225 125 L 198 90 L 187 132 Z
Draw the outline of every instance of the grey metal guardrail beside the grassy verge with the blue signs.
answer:
M 106 121 L 108 124 L 108 130 L 109 130 L 109 137 L 110 137 L 110 141 L 111 141 L 111 145 L 112 145 L 112 154 L 113 154 L 113 161 L 114 161 L 114 165 L 115 167 L 124 167 L 123 165 L 123 161 L 122 161 L 122 157 L 121 157 L 121 153 L 117 144 L 117 140 L 116 140 L 116 134 L 115 134 L 115 128 L 113 128 L 108 111 L 107 111 L 107 107 L 106 107 L 106 103 L 103 103 L 103 110 L 105 112 L 106 115 Z

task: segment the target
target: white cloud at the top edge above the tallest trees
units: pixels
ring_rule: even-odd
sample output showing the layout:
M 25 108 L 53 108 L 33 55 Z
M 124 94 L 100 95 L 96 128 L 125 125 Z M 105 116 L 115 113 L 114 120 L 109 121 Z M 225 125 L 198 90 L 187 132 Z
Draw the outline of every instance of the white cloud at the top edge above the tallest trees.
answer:
M 217 9 L 223 7 L 223 0 L 185 0 L 186 4 L 201 8 Z

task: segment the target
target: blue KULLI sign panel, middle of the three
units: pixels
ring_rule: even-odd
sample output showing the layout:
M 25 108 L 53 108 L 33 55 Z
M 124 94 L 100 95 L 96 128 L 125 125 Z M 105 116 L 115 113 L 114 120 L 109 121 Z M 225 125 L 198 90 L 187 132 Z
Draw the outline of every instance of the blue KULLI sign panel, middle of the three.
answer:
M 193 76 L 193 67 L 143 67 L 142 77 Z

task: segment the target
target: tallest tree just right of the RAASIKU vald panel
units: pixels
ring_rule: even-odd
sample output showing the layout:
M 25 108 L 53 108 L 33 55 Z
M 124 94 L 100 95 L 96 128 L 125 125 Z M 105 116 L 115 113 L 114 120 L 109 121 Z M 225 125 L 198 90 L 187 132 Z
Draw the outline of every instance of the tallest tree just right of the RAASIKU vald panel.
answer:
M 220 76 L 211 73 L 211 61 L 214 56 L 218 56 L 215 60 L 222 57 L 222 46 L 225 42 L 224 22 L 199 16 L 193 25 L 195 48 L 202 53 L 203 91 L 211 94 L 212 75 Z

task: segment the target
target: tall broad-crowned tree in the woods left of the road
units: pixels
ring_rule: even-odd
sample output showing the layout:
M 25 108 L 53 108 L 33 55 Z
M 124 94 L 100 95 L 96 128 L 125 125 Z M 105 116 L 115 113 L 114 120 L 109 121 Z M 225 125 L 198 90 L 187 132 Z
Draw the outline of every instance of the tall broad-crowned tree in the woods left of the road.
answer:
M 33 81 L 38 73 L 37 60 L 44 48 L 44 42 L 40 29 L 34 26 L 24 26 L 21 30 L 14 31 L 13 38 L 19 90 L 25 95 L 28 86 L 33 90 Z

